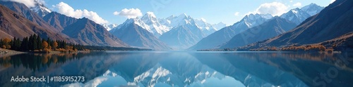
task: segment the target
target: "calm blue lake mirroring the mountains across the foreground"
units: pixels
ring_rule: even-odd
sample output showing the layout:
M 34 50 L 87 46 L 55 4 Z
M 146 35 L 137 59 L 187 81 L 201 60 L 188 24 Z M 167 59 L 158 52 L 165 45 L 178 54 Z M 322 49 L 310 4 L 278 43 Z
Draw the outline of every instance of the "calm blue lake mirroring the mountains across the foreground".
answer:
M 353 53 L 107 51 L 20 54 L 0 64 L 6 87 L 353 86 Z M 17 76 L 84 81 L 11 81 Z

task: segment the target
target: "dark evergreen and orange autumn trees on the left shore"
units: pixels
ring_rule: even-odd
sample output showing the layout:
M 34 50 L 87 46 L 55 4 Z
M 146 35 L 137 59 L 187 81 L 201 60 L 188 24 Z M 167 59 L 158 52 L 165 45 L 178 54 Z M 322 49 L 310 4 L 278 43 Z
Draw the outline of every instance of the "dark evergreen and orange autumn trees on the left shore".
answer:
M 66 41 L 42 39 L 39 35 L 33 34 L 24 37 L 22 40 L 14 37 L 12 40 L 5 38 L 0 40 L 1 48 L 14 51 L 83 51 L 85 48 L 80 44 L 71 44 Z

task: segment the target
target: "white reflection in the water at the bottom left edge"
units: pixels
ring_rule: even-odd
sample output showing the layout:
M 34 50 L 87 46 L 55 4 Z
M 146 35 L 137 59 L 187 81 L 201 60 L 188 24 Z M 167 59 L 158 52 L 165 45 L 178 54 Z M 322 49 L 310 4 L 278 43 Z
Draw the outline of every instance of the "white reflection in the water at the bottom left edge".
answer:
M 88 81 L 87 83 L 70 83 L 70 84 L 66 84 L 64 85 L 64 87 L 96 87 L 98 85 L 100 85 L 100 83 L 102 83 L 103 81 L 107 81 L 106 77 L 97 77 L 95 79 L 92 79 L 90 81 Z

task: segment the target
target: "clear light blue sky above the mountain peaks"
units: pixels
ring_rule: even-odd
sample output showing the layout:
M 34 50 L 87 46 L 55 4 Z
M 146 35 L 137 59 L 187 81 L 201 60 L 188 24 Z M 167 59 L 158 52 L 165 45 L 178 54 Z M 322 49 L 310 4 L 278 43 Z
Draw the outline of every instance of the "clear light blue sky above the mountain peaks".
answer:
M 108 24 L 121 24 L 126 18 L 140 17 L 140 15 L 144 15 L 150 11 L 153 12 L 157 18 L 167 18 L 170 15 L 186 13 L 186 15 L 191 15 L 191 17 L 196 19 L 204 18 L 211 24 L 225 22 L 227 25 L 232 25 L 241 20 L 244 15 L 248 13 L 258 13 L 263 9 L 265 9 L 265 12 L 267 12 L 266 10 L 274 11 L 272 14 L 275 15 L 284 13 L 284 11 L 287 12 L 292 8 L 301 8 L 311 3 L 318 4 L 319 6 L 328 6 L 331 1 L 332 0 L 44 0 L 44 3 L 45 6 L 52 11 L 70 14 L 71 16 L 76 16 L 76 12 L 79 13 L 83 11 L 83 14 L 86 15 L 96 15 L 96 17 L 92 17 L 97 19 L 96 22 Z M 66 9 L 59 11 L 67 7 L 62 4 L 67 4 L 73 8 L 75 13 L 65 13 L 64 11 L 67 11 Z M 59 8 L 59 6 L 63 7 Z M 126 10 L 122 11 L 125 8 Z M 84 10 L 88 13 L 85 13 Z M 140 13 L 138 13 L 138 11 L 140 11 Z M 116 12 L 115 15 L 114 12 Z M 126 13 L 124 14 L 124 12 Z M 85 16 L 76 16 L 76 18 L 82 17 Z

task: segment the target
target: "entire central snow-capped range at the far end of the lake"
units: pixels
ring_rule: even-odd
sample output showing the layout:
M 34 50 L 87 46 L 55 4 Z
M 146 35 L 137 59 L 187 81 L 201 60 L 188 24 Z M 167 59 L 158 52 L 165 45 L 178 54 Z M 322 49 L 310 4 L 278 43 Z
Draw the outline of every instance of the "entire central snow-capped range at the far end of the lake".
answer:
M 172 15 L 168 18 L 157 18 L 154 13 L 149 12 L 142 18 L 131 19 L 116 27 L 114 24 L 104 26 L 110 29 L 109 32 L 131 46 L 155 49 L 188 48 L 208 34 L 217 31 L 205 20 L 191 18 L 185 13 L 179 16 Z M 223 24 L 220 23 L 217 27 L 222 26 Z M 136 32 L 126 33 L 126 31 L 131 31 L 130 29 L 136 29 Z M 150 36 L 151 34 L 152 36 Z M 140 41 L 134 41 L 136 39 Z

